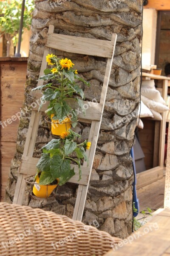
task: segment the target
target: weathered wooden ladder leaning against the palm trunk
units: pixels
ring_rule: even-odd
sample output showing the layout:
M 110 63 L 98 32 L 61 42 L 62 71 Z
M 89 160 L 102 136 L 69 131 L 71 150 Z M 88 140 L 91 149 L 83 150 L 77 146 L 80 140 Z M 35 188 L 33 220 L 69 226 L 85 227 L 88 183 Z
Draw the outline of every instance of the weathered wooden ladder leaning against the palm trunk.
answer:
M 45 45 L 45 51 L 42 58 L 42 65 L 40 70 L 40 76 L 44 75 L 44 70 L 47 67 L 46 55 L 49 53 L 48 48 L 54 48 L 61 51 L 67 51 L 71 53 L 78 53 L 84 55 L 93 55 L 99 57 L 108 58 L 107 67 L 105 72 L 105 79 L 102 87 L 100 103 L 96 102 L 84 102 L 90 107 L 86 110 L 86 115 L 83 113 L 79 114 L 79 121 L 91 123 L 91 129 L 88 141 L 91 142 L 91 148 L 86 153 L 89 157 L 89 166 L 84 162 L 82 166 L 82 179 L 79 179 L 79 170 L 77 166 L 74 166 L 75 175 L 69 180 L 69 182 L 79 184 L 77 199 L 74 207 L 74 220 L 82 220 L 82 215 L 85 207 L 85 200 L 88 192 L 89 181 L 91 177 L 91 170 L 94 161 L 94 155 L 96 151 L 97 140 L 99 137 L 99 130 L 102 121 L 102 114 L 104 111 L 105 99 L 108 90 L 108 83 L 111 74 L 111 67 L 113 62 L 114 49 L 116 45 L 116 34 L 112 35 L 111 41 L 91 39 L 91 38 L 81 38 L 69 35 L 58 35 L 54 34 L 54 26 L 50 25 L 48 29 L 47 41 Z M 43 80 L 38 81 L 37 86 L 43 84 Z M 41 94 L 42 96 L 42 94 Z M 40 92 L 36 91 L 35 97 L 40 99 Z M 13 204 L 23 203 L 24 193 L 26 189 L 25 178 L 29 175 L 34 175 L 36 172 L 36 165 L 38 158 L 32 157 L 34 153 L 34 146 L 37 138 L 37 131 L 40 123 L 40 117 L 44 114 L 47 109 L 48 102 L 44 104 L 41 111 L 38 112 L 37 108 L 34 108 L 31 113 L 31 119 L 28 127 L 28 133 L 26 137 L 26 143 L 23 151 L 23 156 L 21 159 L 21 165 L 19 170 L 19 175 L 17 179 L 17 185 L 14 194 Z

